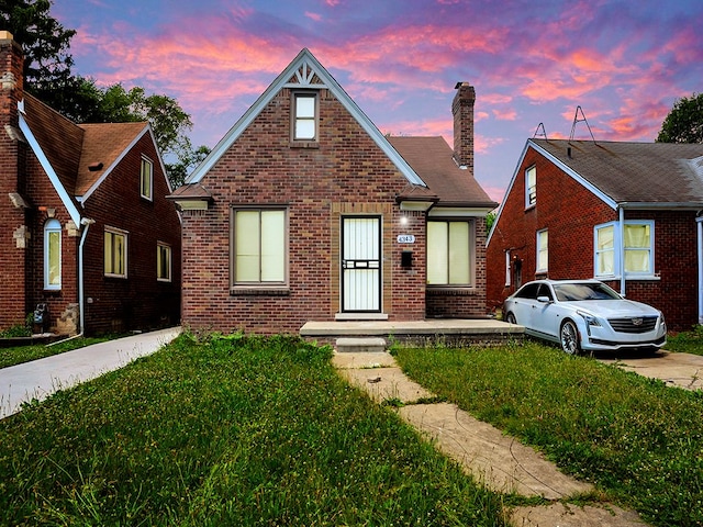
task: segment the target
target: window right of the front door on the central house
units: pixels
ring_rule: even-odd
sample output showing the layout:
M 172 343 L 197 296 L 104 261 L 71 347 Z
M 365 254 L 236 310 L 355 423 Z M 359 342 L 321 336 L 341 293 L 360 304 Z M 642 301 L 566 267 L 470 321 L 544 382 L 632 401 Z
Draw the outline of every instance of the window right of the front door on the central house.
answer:
M 472 223 L 427 222 L 427 284 L 471 285 Z

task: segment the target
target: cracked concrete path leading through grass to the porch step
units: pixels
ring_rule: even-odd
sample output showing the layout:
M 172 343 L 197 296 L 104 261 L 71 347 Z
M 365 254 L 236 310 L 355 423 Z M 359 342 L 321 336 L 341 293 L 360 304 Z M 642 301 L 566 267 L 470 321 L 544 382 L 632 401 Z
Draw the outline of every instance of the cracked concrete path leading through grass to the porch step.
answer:
M 433 403 L 433 394 L 408 379 L 388 352 L 335 352 L 333 363 L 352 384 L 377 402 L 404 403 L 399 415 L 468 473 L 500 493 L 540 496 L 545 506 L 516 507 L 518 527 L 641 527 L 636 513 L 612 504 L 577 506 L 560 502 L 594 492 L 588 483 L 560 472 L 536 450 L 473 418 L 454 404 Z M 419 404 L 420 403 L 420 404 Z

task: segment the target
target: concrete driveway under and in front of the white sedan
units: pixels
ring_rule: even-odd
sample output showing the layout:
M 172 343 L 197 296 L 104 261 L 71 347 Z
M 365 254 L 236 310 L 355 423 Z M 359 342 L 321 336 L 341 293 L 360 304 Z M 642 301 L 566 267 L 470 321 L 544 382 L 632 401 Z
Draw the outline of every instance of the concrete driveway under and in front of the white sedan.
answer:
M 703 357 L 699 355 L 674 354 L 662 349 L 656 354 L 629 352 L 620 354 L 618 357 L 599 354 L 595 358 L 623 370 L 660 379 L 670 386 L 687 390 L 703 388 Z

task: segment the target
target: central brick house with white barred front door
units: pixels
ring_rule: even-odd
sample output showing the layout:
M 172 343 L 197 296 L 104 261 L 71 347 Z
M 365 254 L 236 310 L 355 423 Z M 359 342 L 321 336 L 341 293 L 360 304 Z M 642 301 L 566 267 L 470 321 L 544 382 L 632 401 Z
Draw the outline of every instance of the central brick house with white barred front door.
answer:
M 454 150 L 389 138 L 303 49 L 170 197 L 183 323 L 271 334 L 486 316 L 496 203 L 473 179 L 473 88 L 457 88 Z

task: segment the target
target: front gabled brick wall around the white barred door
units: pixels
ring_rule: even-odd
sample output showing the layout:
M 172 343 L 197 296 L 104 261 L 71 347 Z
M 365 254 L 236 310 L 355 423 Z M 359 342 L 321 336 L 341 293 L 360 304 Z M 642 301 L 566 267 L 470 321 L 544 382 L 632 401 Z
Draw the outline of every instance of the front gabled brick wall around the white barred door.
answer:
M 209 211 L 183 213 L 183 321 L 230 332 L 298 333 L 310 319 L 339 312 L 339 225 L 343 214 L 375 214 L 383 228 L 383 312 L 424 317 L 424 217 L 401 213 L 394 199 L 406 180 L 327 90 L 320 98 L 316 148 L 294 148 L 290 92 L 278 93 L 212 167 L 202 184 Z M 231 294 L 230 210 L 235 204 L 287 204 L 289 283 L 276 294 Z M 401 225 L 401 217 L 409 223 Z M 414 234 L 411 269 L 400 267 Z M 422 265 L 420 262 L 423 262 Z

